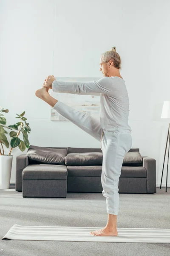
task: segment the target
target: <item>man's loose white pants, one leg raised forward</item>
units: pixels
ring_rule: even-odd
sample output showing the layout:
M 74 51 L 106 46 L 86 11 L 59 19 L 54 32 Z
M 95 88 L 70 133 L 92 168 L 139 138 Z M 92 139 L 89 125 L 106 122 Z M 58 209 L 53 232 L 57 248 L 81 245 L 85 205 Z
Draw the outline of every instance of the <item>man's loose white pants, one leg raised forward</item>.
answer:
M 102 139 L 102 194 L 106 197 L 108 214 L 118 215 L 119 176 L 125 154 L 132 146 L 130 131 L 118 126 L 113 127 L 113 131 L 105 131 L 100 126 L 99 120 L 87 113 L 71 108 L 63 102 L 58 101 L 53 108 L 96 140 Z

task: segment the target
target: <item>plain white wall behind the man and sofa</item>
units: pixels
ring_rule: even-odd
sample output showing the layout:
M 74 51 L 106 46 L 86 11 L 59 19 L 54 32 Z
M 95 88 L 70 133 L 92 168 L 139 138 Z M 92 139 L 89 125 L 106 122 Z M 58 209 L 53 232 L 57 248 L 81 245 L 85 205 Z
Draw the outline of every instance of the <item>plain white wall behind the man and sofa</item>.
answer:
M 130 98 L 132 147 L 156 159 L 159 186 L 169 123 L 160 119 L 163 101 L 170 100 L 169 9 L 169 0 L 0 0 L 0 106 L 9 109 L 7 124 L 26 111 L 32 145 L 100 147 L 73 123 L 50 121 L 50 106 L 34 93 L 53 72 L 101 76 L 100 54 L 116 46 Z M 13 149 L 11 183 L 16 156 L 24 153 Z

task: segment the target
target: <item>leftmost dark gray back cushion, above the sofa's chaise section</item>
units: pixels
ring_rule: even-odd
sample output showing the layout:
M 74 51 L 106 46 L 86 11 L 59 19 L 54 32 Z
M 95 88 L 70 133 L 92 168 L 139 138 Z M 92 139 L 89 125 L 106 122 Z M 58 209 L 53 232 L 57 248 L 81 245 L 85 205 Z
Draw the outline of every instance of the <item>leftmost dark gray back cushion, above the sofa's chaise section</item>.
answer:
M 67 148 L 48 148 L 30 145 L 27 151 L 29 163 L 65 164 Z

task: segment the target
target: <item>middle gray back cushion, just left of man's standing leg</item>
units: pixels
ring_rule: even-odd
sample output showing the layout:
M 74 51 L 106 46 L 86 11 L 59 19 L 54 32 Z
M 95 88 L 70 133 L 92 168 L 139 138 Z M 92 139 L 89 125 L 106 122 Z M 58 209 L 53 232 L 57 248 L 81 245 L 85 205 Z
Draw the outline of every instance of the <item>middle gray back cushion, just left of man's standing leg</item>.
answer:
M 67 166 L 102 165 L 102 152 L 69 153 L 65 157 Z

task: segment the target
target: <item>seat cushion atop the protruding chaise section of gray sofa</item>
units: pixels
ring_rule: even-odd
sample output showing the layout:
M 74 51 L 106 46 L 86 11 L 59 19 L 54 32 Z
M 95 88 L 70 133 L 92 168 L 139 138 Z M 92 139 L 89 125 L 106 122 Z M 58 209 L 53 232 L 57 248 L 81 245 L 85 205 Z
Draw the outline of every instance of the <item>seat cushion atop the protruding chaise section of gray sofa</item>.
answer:
M 30 164 L 23 169 L 25 180 L 66 180 L 67 167 L 52 164 Z

